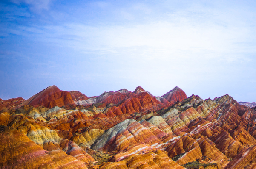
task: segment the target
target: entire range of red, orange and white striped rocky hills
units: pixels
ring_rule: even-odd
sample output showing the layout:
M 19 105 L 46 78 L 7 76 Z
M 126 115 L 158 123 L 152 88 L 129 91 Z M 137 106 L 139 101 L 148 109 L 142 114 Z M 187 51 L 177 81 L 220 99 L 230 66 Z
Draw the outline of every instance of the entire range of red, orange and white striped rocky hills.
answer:
M 229 95 L 49 86 L 0 99 L 0 169 L 256 169 L 255 129 L 256 107 Z

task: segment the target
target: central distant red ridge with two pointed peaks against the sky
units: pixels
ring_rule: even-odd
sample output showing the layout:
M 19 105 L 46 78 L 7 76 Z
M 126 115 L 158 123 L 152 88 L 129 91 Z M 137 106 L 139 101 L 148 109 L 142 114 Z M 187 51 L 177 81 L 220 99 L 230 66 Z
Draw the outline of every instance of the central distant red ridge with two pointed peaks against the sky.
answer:
M 175 87 L 162 97 L 154 97 L 152 94 L 150 94 L 150 92 L 145 91 L 141 86 L 138 86 L 133 92 L 128 91 L 127 89 L 121 89 L 115 92 L 109 91 L 104 92 L 98 97 L 81 100 L 76 103 L 83 106 L 92 105 L 95 103 L 115 104 L 106 112 L 108 116 L 113 117 L 120 114 L 158 111 L 161 108 L 170 106 L 174 102 L 182 101 L 185 98 L 187 98 L 187 95 L 178 87 Z

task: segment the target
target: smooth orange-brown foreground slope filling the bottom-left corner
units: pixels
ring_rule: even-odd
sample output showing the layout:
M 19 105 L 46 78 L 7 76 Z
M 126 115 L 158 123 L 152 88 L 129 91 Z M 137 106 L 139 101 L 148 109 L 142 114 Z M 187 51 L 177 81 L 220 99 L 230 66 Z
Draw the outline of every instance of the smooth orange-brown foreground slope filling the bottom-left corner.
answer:
M 0 126 L 0 168 L 80 169 L 83 162 L 61 150 L 46 151 L 12 127 Z

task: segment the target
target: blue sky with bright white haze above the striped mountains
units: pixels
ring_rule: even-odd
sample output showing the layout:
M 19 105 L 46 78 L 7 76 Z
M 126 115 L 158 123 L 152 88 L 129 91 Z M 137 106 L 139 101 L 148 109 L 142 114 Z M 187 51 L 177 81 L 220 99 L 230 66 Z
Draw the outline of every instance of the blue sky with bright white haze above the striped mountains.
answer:
M 255 0 L 0 0 L 0 98 L 175 86 L 256 102 Z

